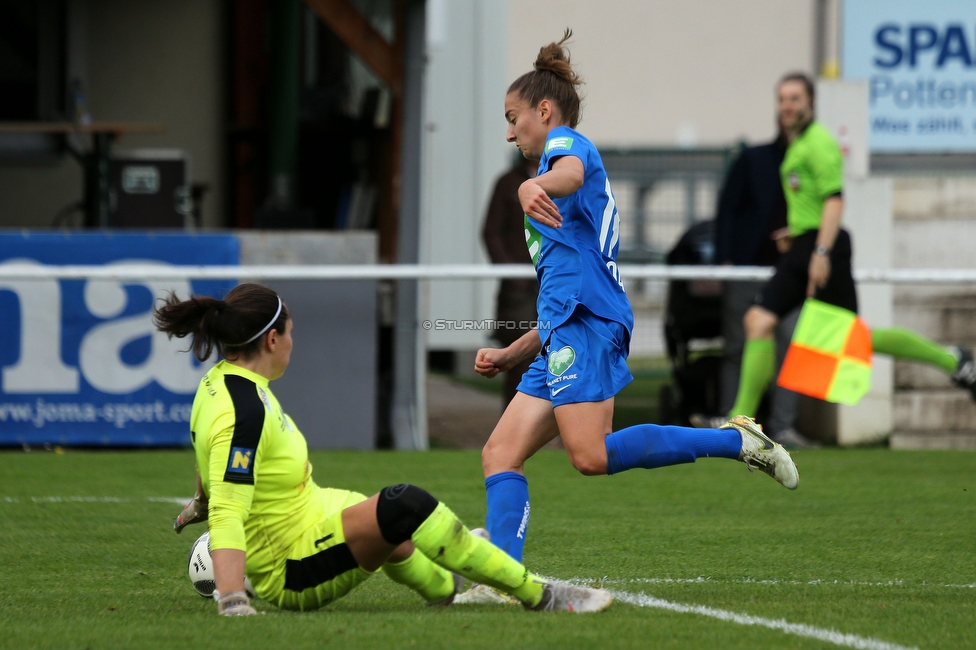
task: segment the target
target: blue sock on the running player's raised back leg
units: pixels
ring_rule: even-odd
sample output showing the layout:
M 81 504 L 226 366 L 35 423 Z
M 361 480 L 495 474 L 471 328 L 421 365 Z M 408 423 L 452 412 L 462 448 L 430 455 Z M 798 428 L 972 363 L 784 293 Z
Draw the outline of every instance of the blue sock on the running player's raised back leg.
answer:
M 606 437 L 607 474 L 635 467 L 654 469 L 693 463 L 699 456 L 737 460 L 742 436 L 735 429 L 692 429 L 689 427 L 638 424 Z

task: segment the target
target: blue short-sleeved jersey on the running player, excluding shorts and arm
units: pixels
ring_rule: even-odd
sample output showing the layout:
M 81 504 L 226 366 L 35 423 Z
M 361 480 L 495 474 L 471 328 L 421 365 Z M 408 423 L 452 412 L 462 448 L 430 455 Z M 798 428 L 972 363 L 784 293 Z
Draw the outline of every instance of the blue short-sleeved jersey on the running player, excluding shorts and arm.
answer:
M 525 242 L 539 277 L 539 337 L 545 343 L 548 330 L 563 324 L 577 305 L 620 323 L 629 336 L 634 312 L 617 270 L 620 216 L 603 161 L 592 142 L 567 126 L 549 132 L 539 174 L 561 156 L 579 158 L 584 170 L 580 189 L 553 199 L 562 228 L 524 217 Z

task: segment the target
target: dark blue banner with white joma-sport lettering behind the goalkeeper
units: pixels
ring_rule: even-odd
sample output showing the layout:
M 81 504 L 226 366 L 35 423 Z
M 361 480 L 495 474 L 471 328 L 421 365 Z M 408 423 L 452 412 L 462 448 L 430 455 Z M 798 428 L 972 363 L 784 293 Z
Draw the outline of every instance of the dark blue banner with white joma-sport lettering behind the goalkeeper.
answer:
M 237 239 L 183 234 L 0 234 L 4 265 L 237 264 Z M 222 296 L 230 281 L 0 280 L 0 445 L 189 444 L 206 367 L 155 331 L 152 307 Z

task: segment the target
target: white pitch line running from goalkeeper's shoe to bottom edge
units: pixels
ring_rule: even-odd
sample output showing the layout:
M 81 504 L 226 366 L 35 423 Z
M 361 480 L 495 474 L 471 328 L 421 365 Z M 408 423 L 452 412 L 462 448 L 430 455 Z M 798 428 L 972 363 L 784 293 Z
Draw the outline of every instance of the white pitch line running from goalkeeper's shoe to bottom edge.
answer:
M 865 638 L 862 636 L 857 636 L 856 634 L 844 634 L 843 632 L 837 632 L 836 630 L 828 630 L 820 627 L 814 627 L 812 625 L 790 623 L 783 619 L 773 620 L 771 618 L 762 618 L 760 616 L 751 616 L 749 614 L 738 614 L 736 612 L 730 612 L 724 609 L 715 609 L 714 607 L 706 607 L 704 605 L 684 605 L 681 603 L 673 603 L 669 600 L 648 596 L 645 593 L 634 594 L 630 593 L 629 591 L 616 590 L 611 590 L 610 593 L 613 594 L 613 597 L 616 600 L 622 603 L 637 605 L 638 607 L 654 607 L 657 609 L 666 609 L 682 614 L 699 614 L 701 616 L 709 616 L 711 618 L 717 618 L 720 621 L 727 621 L 729 623 L 736 623 L 738 625 L 759 625 L 761 627 L 768 627 L 771 630 L 779 630 L 780 632 L 785 632 L 786 634 L 810 637 L 812 639 L 826 641 L 835 645 L 847 646 L 848 648 L 859 648 L 860 650 L 917 650 L 917 648 L 909 648 L 896 643 L 888 643 L 887 641 L 879 641 L 878 639 Z

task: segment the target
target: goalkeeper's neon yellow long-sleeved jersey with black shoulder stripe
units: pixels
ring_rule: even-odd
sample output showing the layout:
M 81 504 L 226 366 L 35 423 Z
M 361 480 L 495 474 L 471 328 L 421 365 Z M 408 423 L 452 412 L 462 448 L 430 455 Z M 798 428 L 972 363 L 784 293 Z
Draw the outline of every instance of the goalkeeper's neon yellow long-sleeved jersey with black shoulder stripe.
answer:
M 324 515 L 305 438 L 265 377 L 227 361 L 200 380 L 190 431 L 210 499 L 210 548 L 246 551 L 256 584 Z

